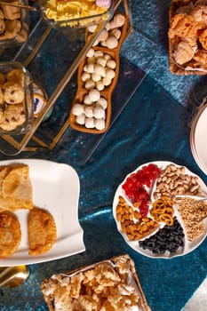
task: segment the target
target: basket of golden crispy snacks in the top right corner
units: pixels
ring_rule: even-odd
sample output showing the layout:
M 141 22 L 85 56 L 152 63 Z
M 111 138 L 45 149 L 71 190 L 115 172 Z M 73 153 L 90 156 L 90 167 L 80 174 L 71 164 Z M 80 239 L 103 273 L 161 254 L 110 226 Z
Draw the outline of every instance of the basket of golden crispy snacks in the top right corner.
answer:
M 176 75 L 206 75 L 207 3 L 172 0 L 169 10 L 169 69 Z

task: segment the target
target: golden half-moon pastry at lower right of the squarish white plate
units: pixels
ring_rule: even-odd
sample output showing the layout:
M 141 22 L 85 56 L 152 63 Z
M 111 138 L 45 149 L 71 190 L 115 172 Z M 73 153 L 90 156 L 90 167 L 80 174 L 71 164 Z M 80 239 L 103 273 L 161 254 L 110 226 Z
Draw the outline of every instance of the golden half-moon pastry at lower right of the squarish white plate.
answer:
M 50 251 L 56 238 L 57 229 L 51 213 L 34 207 L 28 216 L 28 254 L 37 256 Z

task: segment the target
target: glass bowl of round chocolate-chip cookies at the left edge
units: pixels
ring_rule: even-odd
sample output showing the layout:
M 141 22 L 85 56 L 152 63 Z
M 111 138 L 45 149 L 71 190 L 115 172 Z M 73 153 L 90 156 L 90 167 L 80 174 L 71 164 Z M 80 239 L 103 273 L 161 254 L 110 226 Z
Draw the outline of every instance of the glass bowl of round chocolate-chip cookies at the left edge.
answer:
M 0 62 L 0 135 L 20 135 L 33 124 L 33 82 L 20 62 Z

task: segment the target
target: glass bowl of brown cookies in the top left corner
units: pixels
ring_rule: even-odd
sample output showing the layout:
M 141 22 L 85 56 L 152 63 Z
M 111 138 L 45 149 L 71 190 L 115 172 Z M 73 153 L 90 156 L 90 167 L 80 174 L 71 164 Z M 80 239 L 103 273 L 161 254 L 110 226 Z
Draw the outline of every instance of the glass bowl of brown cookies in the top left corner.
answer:
M 9 3 L 28 6 L 28 0 L 11 0 Z M 0 4 L 0 47 L 14 47 L 26 42 L 28 28 L 29 12 L 27 8 Z

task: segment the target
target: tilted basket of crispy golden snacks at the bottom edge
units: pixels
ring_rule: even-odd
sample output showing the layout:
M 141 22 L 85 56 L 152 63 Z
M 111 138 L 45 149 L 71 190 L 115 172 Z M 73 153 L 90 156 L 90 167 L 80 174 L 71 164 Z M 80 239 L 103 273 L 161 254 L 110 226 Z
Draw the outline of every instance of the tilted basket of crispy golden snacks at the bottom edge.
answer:
M 150 310 L 134 263 L 128 255 L 104 260 L 68 274 L 52 275 L 43 281 L 41 289 L 51 311 Z M 76 298 L 71 295 L 74 291 Z

